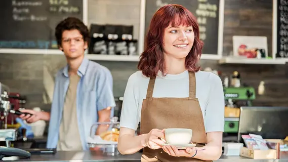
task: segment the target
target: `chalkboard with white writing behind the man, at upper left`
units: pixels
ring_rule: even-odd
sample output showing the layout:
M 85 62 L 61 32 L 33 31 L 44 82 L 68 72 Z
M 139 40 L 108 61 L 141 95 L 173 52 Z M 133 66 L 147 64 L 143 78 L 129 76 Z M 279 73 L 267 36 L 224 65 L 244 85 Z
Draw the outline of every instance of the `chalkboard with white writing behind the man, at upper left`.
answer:
M 66 17 L 83 20 L 81 0 L 2 0 L 0 48 L 58 49 L 56 25 Z

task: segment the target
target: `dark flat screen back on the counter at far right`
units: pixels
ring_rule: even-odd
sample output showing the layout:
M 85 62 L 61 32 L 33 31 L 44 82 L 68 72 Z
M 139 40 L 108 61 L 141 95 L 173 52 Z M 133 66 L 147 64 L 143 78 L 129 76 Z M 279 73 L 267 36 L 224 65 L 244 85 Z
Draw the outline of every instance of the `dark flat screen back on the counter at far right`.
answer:
M 240 107 L 238 141 L 242 134 L 261 135 L 264 139 L 285 139 L 288 135 L 288 107 Z

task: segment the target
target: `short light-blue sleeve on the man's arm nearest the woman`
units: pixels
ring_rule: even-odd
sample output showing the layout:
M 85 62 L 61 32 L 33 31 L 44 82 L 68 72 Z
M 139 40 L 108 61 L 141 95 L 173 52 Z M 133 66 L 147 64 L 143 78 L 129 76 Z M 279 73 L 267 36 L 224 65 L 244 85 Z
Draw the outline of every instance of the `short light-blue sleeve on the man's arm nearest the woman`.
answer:
M 113 95 L 113 78 L 107 68 L 99 70 L 97 81 L 97 110 L 103 110 L 107 107 L 115 107 Z

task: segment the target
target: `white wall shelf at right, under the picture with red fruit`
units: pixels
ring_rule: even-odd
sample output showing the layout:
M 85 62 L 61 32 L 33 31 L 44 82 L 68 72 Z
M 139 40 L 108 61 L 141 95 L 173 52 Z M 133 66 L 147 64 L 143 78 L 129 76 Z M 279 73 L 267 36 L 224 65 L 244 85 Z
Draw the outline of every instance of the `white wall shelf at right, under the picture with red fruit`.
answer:
M 224 57 L 218 62 L 219 64 L 274 64 L 284 65 L 286 59 L 257 59 L 257 58 L 240 58 L 240 57 Z

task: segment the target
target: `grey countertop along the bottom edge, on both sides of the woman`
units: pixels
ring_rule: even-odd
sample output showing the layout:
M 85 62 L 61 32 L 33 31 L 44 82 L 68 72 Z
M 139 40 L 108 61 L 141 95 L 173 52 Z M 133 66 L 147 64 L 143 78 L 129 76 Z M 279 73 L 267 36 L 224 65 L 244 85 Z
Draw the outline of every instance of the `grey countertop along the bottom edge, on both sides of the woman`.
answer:
M 287 152 L 288 153 L 288 152 Z M 58 151 L 55 155 L 32 155 L 29 159 L 17 159 L 15 161 L 53 161 L 53 162 L 68 162 L 68 161 L 140 161 L 141 153 L 135 153 L 132 155 L 117 155 L 117 156 L 108 156 L 103 155 L 100 151 Z M 286 157 L 286 159 L 250 159 L 241 156 L 224 156 L 222 155 L 220 159 L 216 161 L 232 161 L 232 162 L 276 162 L 276 161 L 288 161 L 288 156 L 280 155 L 281 158 Z

